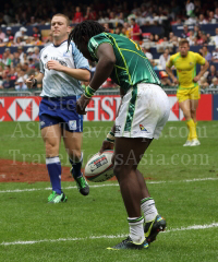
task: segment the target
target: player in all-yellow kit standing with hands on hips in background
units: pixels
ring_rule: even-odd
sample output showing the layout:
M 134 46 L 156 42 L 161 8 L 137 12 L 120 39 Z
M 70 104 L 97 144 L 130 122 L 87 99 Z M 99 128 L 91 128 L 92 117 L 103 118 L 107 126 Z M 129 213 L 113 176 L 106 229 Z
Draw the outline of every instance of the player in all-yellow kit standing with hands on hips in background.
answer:
M 203 66 L 198 74 L 196 74 L 196 63 Z M 178 79 L 172 73 L 172 66 L 177 69 Z M 190 51 L 190 45 L 186 39 L 180 40 L 179 52 L 170 57 L 166 67 L 166 71 L 173 83 L 179 85 L 177 97 L 190 131 L 187 141 L 183 146 L 195 146 L 201 144 L 196 133 L 196 109 L 201 97 L 197 82 L 208 67 L 209 63 L 205 58 L 197 52 Z

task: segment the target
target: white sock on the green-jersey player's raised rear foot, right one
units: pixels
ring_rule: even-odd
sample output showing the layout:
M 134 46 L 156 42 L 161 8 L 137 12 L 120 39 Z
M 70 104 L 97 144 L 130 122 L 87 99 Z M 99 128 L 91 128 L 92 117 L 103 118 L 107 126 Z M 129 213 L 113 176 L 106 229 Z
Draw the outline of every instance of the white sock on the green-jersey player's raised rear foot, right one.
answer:
M 144 212 L 145 222 L 154 221 L 158 215 L 153 198 L 146 198 L 141 200 L 141 209 Z

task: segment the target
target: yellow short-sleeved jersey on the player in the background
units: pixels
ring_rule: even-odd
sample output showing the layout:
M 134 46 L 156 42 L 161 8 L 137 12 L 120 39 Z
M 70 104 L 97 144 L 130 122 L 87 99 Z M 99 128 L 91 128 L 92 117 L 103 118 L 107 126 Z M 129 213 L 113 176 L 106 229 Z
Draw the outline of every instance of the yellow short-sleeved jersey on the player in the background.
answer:
M 177 75 L 179 80 L 179 88 L 187 90 L 198 86 L 197 83 L 193 82 L 196 76 L 196 63 L 205 64 L 205 58 L 197 52 L 189 51 L 186 57 L 181 57 L 180 52 L 170 57 L 167 63 L 168 68 L 174 66 L 177 69 Z

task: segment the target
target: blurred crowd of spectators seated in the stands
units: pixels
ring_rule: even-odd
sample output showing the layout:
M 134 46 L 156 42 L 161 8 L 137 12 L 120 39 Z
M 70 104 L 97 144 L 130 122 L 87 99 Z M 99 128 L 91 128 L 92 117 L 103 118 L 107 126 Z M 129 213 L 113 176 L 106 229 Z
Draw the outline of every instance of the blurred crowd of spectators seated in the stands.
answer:
M 83 1 L 82 1 L 83 2 Z M 160 4 L 161 3 L 161 4 Z M 72 24 L 84 20 L 95 20 L 104 24 L 106 32 L 128 37 L 138 44 L 154 69 L 157 71 L 164 86 L 173 86 L 165 72 L 170 53 L 178 51 L 180 38 L 186 38 L 190 46 L 199 46 L 199 53 L 210 62 L 209 71 L 199 80 L 203 88 L 218 85 L 218 1 L 138 1 L 121 2 L 94 0 L 90 4 L 74 5 L 72 1 L 62 1 L 49 4 L 38 3 L 36 7 L 29 1 L 14 3 L 11 9 L 7 2 L 0 12 L 0 88 L 26 90 L 25 80 L 31 74 L 39 72 L 39 49 L 52 41 L 52 36 L 41 35 L 39 25 L 49 24 L 53 14 L 64 13 Z M 214 35 L 203 32 L 201 26 L 207 23 L 217 24 Z M 183 24 L 181 36 L 175 36 L 171 25 Z M 193 29 L 189 28 L 192 24 Z M 20 28 L 14 34 L 12 26 Z M 32 25 L 33 32 L 27 34 L 26 27 Z M 143 34 L 142 26 L 162 25 L 162 34 Z M 209 52 L 208 46 L 215 46 Z M 11 47 L 16 51 L 11 52 Z M 28 47 L 24 52 L 24 47 Z M 154 59 L 150 51 L 156 48 L 159 59 Z M 25 48 L 26 49 L 26 48 Z M 90 64 L 93 71 L 95 64 Z M 86 85 L 87 83 L 83 83 Z M 112 86 L 110 79 L 102 85 Z M 38 85 L 38 88 L 41 86 Z

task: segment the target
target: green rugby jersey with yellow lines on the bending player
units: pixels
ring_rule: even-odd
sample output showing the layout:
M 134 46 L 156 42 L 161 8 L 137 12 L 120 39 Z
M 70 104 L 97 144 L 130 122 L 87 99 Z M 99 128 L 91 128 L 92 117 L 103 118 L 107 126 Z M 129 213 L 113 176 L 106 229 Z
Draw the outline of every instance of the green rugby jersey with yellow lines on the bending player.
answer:
M 88 51 L 95 61 L 98 61 L 96 53 L 102 43 L 108 43 L 113 47 L 116 64 L 110 76 L 124 92 L 137 83 L 160 85 L 150 62 L 136 43 L 110 33 L 96 35 L 88 41 Z

